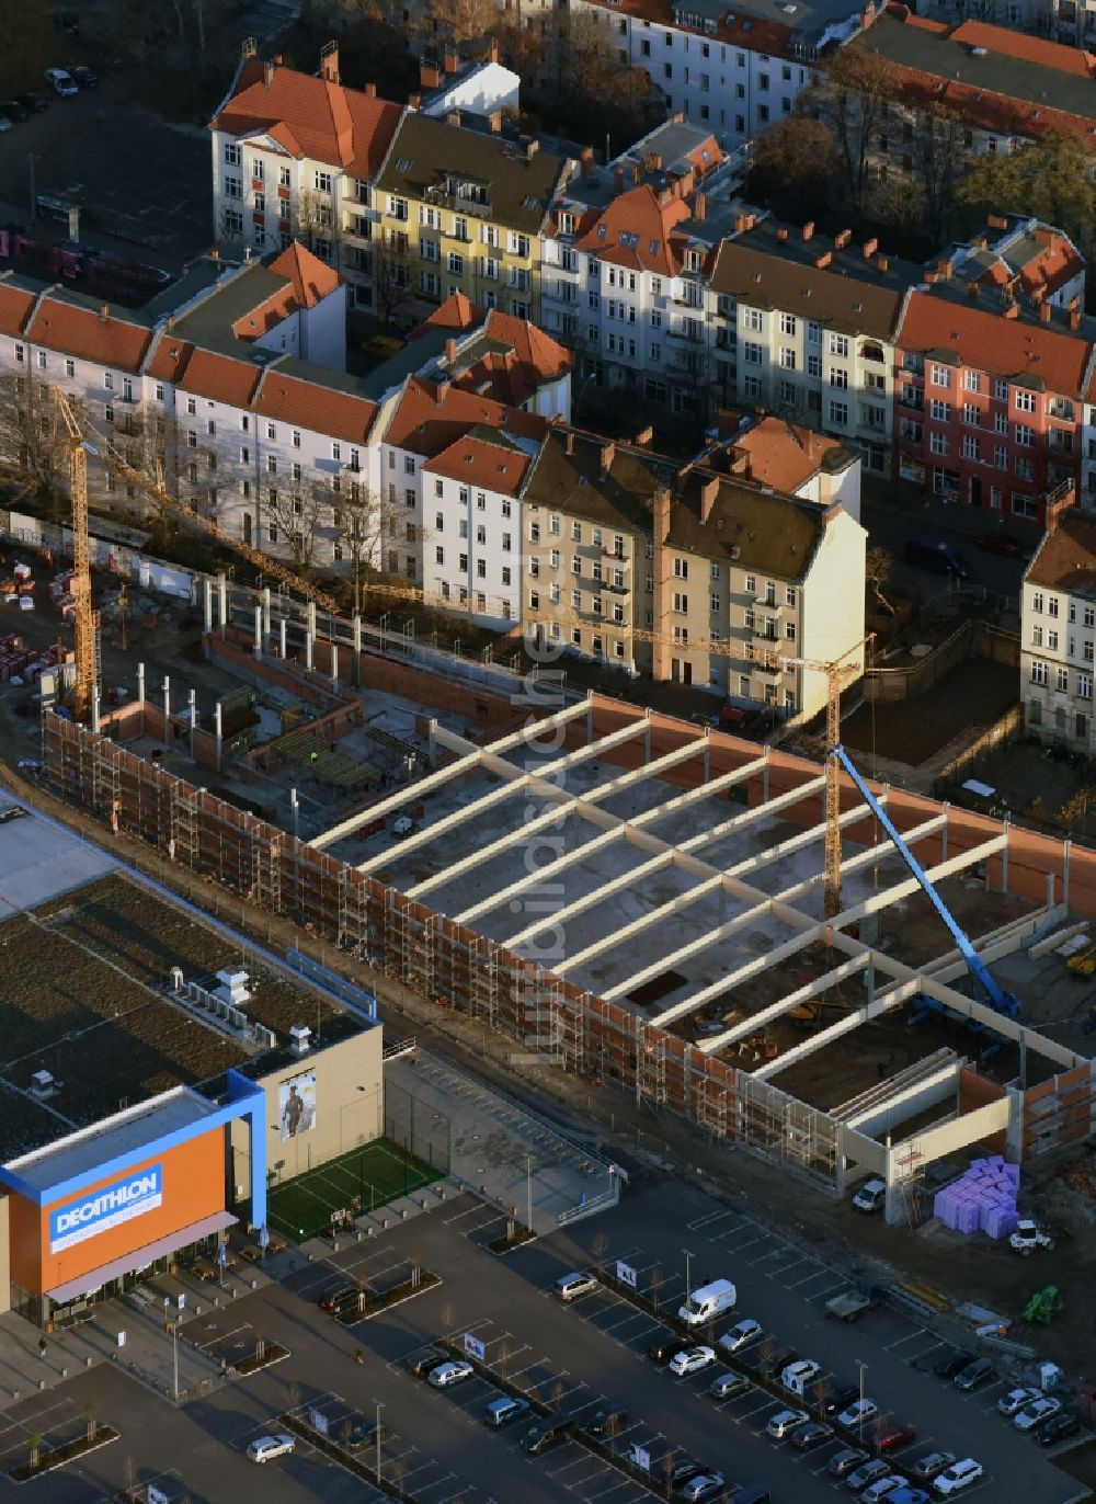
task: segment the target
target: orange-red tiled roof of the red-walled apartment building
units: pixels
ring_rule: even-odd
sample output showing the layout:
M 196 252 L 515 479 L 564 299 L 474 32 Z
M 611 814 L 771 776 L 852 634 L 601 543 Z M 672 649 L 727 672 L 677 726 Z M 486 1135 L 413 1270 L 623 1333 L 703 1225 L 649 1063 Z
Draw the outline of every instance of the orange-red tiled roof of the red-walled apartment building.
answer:
M 1045 323 L 1004 319 L 932 293 L 914 292 L 896 344 L 905 350 L 955 350 L 964 365 L 998 376 L 1039 376 L 1048 391 L 1079 397 L 1088 341 Z

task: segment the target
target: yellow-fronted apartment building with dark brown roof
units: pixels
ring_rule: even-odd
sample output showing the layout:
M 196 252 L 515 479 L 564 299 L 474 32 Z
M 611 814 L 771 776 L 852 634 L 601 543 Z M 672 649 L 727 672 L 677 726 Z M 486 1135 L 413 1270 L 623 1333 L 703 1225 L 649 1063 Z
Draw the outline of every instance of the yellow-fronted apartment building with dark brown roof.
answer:
M 463 293 L 540 323 L 543 236 L 573 170 L 531 137 L 404 114 L 373 200 L 376 268 L 395 293 L 392 313 L 418 323 Z

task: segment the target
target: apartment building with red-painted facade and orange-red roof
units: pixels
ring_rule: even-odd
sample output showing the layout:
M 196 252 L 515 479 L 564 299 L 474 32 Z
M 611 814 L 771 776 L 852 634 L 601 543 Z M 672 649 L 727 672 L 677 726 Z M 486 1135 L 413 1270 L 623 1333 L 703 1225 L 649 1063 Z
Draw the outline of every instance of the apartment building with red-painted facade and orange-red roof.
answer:
M 946 501 L 1042 520 L 1076 484 L 1093 343 L 1079 308 L 1022 304 L 950 263 L 910 296 L 898 335 L 898 474 Z

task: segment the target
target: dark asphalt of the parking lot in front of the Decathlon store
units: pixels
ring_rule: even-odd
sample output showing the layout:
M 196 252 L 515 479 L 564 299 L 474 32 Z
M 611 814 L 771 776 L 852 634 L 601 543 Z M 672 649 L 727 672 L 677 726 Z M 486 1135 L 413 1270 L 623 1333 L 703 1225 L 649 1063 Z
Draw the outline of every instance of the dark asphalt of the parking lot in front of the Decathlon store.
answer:
M 995 1412 L 1004 1379 L 962 1396 L 953 1385 L 919 1372 L 941 1346 L 932 1331 L 893 1310 L 872 1311 L 855 1327 L 827 1322 L 825 1299 L 848 1287 L 842 1274 L 819 1262 L 809 1242 L 795 1247 L 768 1233 L 741 1212 L 731 1212 L 701 1193 L 672 1182 L 643 1182 L 622 1205 L 553 1235 L 507 1259 L 483 1244 L 501 1230 L 498 1214 L 460 1197 L 428 1217 L 401 1224 L 332 1256 L 331 1265 L 383 1281 L 415 1256 L 442 1274 L 444 1283 L 389 1313 L 344 1328 L 323 1316 L 317 1290 L 331 1280 L 328 1263 L 314 1263 L 283 1286 L 233 1302 L 241 1343 L 262 1330 L 283 1342 L 290 1358 L 253 1379 L 233 1382 L 179 1412 L 165 1400 L 114 1370 L 93 1370 L 62 1390 L 36 1396 L 9 1411 L 0 1430 L 0 1465 L 26 1454 L 26 1432 L 57 1426 L 57 1435 L 80 1429 L 90 1394 L 99 1418 L 119 1424 L 122 1441 L 66 1468 L 50 1483 L 59 1504 L 102 1498 L 125 1478 L 131 1457 L 143 1481 L 155 1481 L 168 1498 L 186 1492 L 195 1504 L 251 1498 L 257 1469 L 244 1451 L 272 1429 L 287 1406 L 319 1409 L 338 1433 L 347 1417 L 373 1418 L 383 1406 L 389 1438 L 383 1445 L 386 1477 L 400 1477 L 422 1504 L 510 1504 L 511 1499 L 576 1504 L 642 1504 L 648 1490 L 607 1466 L 577 1442 L 541 1457 L 519 1447 L 522 1426 L 490 1432 L 483 1411 L 492 1388 L 481 1379 L 436 1393 L 409 1378 L 403 1358 L 442 1333 L 474 1333 L 489 1361 L 504 1363 L 508 1378 L 564 1412 L 619 1400 L 630 1411 L 627 1441 L 652 1453 L 666 1447 L 695 1454 L 732 1481 L 765 1481 L 779 1504 L 815 1504 L 846 1493 L 825 1472 L 836 1450 L 827 1444 L 797 1453 L 768 1441 L 764 1426 L 777 1408 L 761 1391 L 725 1405 L 707 1394 L 710 1373 L 674 1379 L 645 1357 L 657 1327 L 628 1302 L 606 1292 L 571 1307 L 553 1293 L 555 1278 L 598 1254 L 627 1259 L 639 1284 L 651 1286 L 659 1268 L 660 1295 L 677 1307 L 686 1284 L 686 1250 L 692 1280 L 726 1275 L 738 1284 L 738 1310 L 755 1316 L 777 1340 L 818 1358 L 837 1379 L 855 1382 L 866 1366 L 866 1391 L 886 1412 L 917 1427 L 917 1441 L 895 1456 L 896 1469 L 929 1450 L 947 1447 L 973 1454 L 986 1466 L 985 1480 L 967 1498 L 1022 1498 L 1025 1504 L 1063 1504 L 1076 1495 L 1073 1480 Z M 108 1319 L 108 1318 L 105 1318 Z M 355 1348 L 362 1361 L 355 1361 Z M 269 1463 L 263 1498 L 274 1504 L 301 1499 L 368 1499 L 361 1480 L 308 1447 Z

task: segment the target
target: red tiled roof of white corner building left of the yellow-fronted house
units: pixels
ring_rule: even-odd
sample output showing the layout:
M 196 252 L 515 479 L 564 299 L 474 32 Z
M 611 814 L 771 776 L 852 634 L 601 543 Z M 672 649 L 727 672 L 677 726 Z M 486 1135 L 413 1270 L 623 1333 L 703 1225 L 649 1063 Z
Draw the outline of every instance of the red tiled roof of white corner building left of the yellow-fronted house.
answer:
M 230 135 L 265 131 L 293 156 L 329 162 L 358 177 L 380 168 L 401 105 L 293 68 L 272 66 L 268 87 L 265 66 L 259 59 L 244 63 L 236 92 L 210 120 L 212 129 Z

